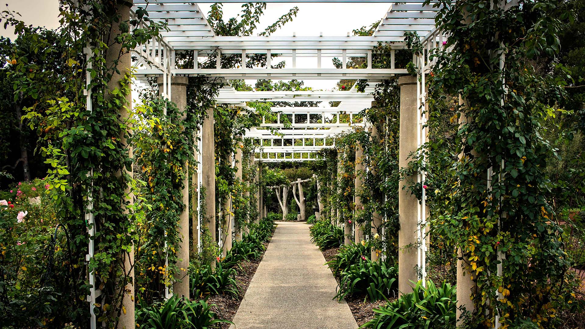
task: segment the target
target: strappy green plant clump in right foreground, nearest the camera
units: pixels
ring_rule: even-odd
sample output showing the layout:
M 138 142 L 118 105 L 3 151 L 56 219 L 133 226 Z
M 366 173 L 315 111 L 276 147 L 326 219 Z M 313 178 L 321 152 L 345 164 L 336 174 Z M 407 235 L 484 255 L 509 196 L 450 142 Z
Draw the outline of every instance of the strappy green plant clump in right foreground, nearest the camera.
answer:
M 455 287 L 449 283 L 443 282 L 437 288 L 432 281 L 428 281 L 425 288 L 419 281 L 412 293 L 374 309 L 374 318 L 360 328 L 455 328 L 456 297 Z

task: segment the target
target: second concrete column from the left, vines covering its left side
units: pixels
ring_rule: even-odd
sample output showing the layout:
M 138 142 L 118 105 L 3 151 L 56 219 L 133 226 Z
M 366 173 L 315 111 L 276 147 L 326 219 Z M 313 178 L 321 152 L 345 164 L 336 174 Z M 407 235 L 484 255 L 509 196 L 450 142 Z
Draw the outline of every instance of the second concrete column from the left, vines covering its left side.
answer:
M 180 111 L 185 111 L 187 108 L 187 85 L 189 83 L 188 77 L 171 77 L 171 102 L 174 102 Z M 159 94 L 163 88 L 163 78 L 158 78 Z M 182 118 L 187 115 L 183 112 Z M 187 170 L 189 163 L 183 163 L 183 168 Z M 187 275 L 187 268 L 189 267 L 189 177 L 185 174 L 183 179 L 183 204 L 185 207 L 181 214 L 179 214 L 179 228 L 178 232 L 181 234 L 181 242 L 177 249 L 177 268 L 175 283 L 173 283 L 173 293 L 179 296 L 189 297 L 189 276 Z M 181 281 L 181 282 L 178 282 Z

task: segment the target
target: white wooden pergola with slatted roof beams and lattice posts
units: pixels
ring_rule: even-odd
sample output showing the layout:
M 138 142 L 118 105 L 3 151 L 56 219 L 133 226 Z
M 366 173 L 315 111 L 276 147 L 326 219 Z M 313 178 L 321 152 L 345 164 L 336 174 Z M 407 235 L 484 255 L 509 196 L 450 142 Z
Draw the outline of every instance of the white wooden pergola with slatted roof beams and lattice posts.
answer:
M 214 0 L 199 0 L 199 3 L 216 2 Z M 225 0 L 222 2 L 242 2 Z M 287 0 L 265 0 L 263 2 L 291 2 Z M 273 107 L 276 121 L 267 121 L 260 126 L 246 132 L 245 138 L 254 139 L 257 153 L 256 160 L 261 162 L 307 161 L 317 159 L 315 152 L 324 148 L 335 148 L 335 136 L 355 129 L 364 129 L 364 119 L 359 112 L 370 108 L 373 101 L 373 91 L 376 83 L 393 77 L 397 74 L 407 74 L 405 67 L 397 67 L 395 53 L 406 51 L 404 41 L 405 32 L 416 31 L 425 45 L 424 53 L 413 56 L 419 77 L 417 81 L 417 108 L 418 108 L 418 145 L 422 145 L 426 138 L 426 115 L 424 90 L 425 73 L 429 73 L 433 60 L 430 56 L 443 48 L 444 33 L 435 29 L 435 14 L 438 8 L 433 5 L 423 6 L 424 0 L 406 0 L 400 3 L 382 0 L 298 0 L 295 2 L 387 2 L 388 11 L 380 20 L 373 36 L 324 36 L 322 33 L 315 36 L 216 36 L 204 13 L 197 3 L 184 0 L 133 0 L 131 18 L 136 18 L 137 8 L 146 8 L 149 18 L 154 21 L 168 23 L 168 31 L 161 32 L 149 43 L 133 50 L 137 61 L 135 76 L 138 81 L 153 77 L 162 77 L 161 95 L 170 99 L 171 76 L 207 76 L 221 81 L 231 79 L 363 79 L 369 81 L 365 92 L 358 92 L 354 87 L 348 91 L 236 91 L 231 87 L 222 88 L 216 98 L 216 104 L 236 106 L 253 111 L 248 102 L 320 102 L 317 107 Z M 142 23 L 147 28 L 146 23 Z M 373 67 L 373 59 L 380 56 L 377 47 L 383 44 L 386 52 L 390 53 L 387 67 Z M 192 53 L 194 65 L 191 68 L 177 68 L 176 55 L 178 52 Z M 87 51 L 87 56 L 91 52 Z M 249 68 L 247 61 L 253 54 L 266 54 L 266 66 Z M 225 56 L 238 56 L 242 64 L 239 68 L 222 68 Z M 385 54 L 387 56 L 387 54 Z M 309 57 L 312 67 L 298 68 L 297 58 Z M 338 57 L 342 61 L 341 68 L 324 68 L 324 60 L 330 61 Z M 348 68 L 348 57 L 362 57 L 366 68 Z M 273 63 L 285 59 L 287 67 L 274 68 Z M 215 62 L 214 68 L 202 68 L 202 63 Z M 209 67 L 209 65 L 205 66 Z M 91 76 L 87 75 L 88 84 Z M 87 92 L 88 107 L 91 107 L 91 93 Z M 337 107 L 328 106 L 329 102 L 340 102 Z M 281 118 L 286 115 L 290 126 L 285 126 Z M 270 129 L 277 129 L 274 134 Z M 201 131 L 201 129 L 199 129 Z M 201 142 L 201 141 L 200 141 Z M 201 145 L 199 145 L 201 147 Z M 201 154 L 199 154 L 201 162 Z M 199 169 L 199 182 L 201 170 Z M 418 174 L 419 183 L 425 180 L 425 172 Z M 199 187 L 197 189 L 199 193 Z M 425 253 L 426 244 L 426 211 L 425 190 L 422 189 L 422 204 L 419 205 L 418 224 L 418 266 L 422 272 L 422 280 L 426 280 Z M 199 198 L 198 198 L 199 199 Z M 197 212 L 200 205 L 198 205 Z M 93 218 L 91 209 L 88 209 L 88 222 Z M 90 227 L 93 227 L 90 225 Z M 94 232 L 90 231 L 90 235 Z M 88 260 L 94 255 L 93 240 L 90 239 Z M 93 305 L 99 296 L 95 288 L 95 277 L 90 273 L 90 301 L 91 327 L 95 328 L 95 314 Z

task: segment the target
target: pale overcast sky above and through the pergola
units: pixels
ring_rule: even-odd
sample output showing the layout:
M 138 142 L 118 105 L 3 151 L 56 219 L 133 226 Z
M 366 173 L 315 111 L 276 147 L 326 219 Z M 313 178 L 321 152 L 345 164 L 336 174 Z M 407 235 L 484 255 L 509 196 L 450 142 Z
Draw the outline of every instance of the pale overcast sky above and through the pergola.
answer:
M 19 12 L 22 15 L 21 19 L 27 24 L 46 26 L 50 29 L 59 27 L 58 0 L 4 0 L 1 3 L 8 4 L 8 9 Z M 371 23 L 376 22 L 386 14 L 390 6 L 390 4 L 364 2 L 359 4 L 267 4 L 265 15 L 260 22 L 260 29 L 266 28 L 295 5 L 300 9 L 297 17 L 274 35 L 292 36 L 292 33 L 296 33 L 297 36 L 318 36 L 320 32 L 323 32 L 324 36 L 345 36 L 353 29 L 370 26 Z M 242 4 L 224 4 L 223 17 L 227 19 L 238 15 L 241 6 Z M 6 8 L 2 7 L 2 10 Z M 199 4 L 199 7 L 207 16 L 211 4 Z M 12 29 L 5 30 L 3 25 L 0 26 L 0 35 L 13 37 L 13 33 Z M 301 57 L 297 60 L 297 67 L 314 67 L 312 61 L 314 59 Z M 333 65 L 331 61 L 324 59 L 322 67 L 333 67 Z M 335 83 L 336 81 L 332 80 L 305 80 L 305 85 L 319 89 L 332 88 Z

